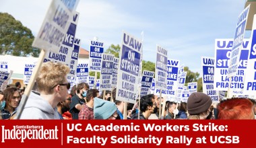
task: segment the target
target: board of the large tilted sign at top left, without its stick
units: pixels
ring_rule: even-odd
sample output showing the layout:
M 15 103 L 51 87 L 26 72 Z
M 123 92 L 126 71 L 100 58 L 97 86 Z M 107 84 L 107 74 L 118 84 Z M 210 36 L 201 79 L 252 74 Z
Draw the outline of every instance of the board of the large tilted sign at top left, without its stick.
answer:
M 49 10 L 44 17 L 44 22 L 34 39 L 32 46 L 59 52 L 64 38 L 73 40 L 74 36 L 67 36 L 67 30 L 71 24 L 73 10 L 77 7 L 79 0 L 52 1 Z M 75 17 L 73 17 L 75 19 Z

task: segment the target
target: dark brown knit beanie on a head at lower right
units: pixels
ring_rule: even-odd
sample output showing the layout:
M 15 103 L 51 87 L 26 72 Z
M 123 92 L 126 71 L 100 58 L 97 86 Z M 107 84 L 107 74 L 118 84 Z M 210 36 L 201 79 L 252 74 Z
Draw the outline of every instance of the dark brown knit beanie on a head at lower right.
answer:
M 210 96 L 201 92 L 192 93 L 187 99 L 187 110 L 189 114 L 200 114 L 205 112 L 212 105 Z

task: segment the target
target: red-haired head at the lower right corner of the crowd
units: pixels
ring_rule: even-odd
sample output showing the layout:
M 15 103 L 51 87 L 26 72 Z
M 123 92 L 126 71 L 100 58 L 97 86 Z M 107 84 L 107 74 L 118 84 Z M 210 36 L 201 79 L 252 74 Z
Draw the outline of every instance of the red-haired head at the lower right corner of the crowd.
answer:
M 255 119 L 253 112 L 253 102 L 247 98 L 232 98 L 222 100 L 217 106 L 218 119 Z

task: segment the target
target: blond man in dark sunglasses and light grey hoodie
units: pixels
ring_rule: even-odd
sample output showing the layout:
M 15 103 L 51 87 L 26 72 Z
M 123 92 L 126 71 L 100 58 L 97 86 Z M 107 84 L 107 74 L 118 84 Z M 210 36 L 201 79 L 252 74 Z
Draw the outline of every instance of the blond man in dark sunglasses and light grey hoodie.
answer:
M 20 119 L 59 119 L 57 104 L 68 95 L 68 73 L 69 67 L 63 63 L 42 63 L 36 78 L 39 93 L 30 93 Z

